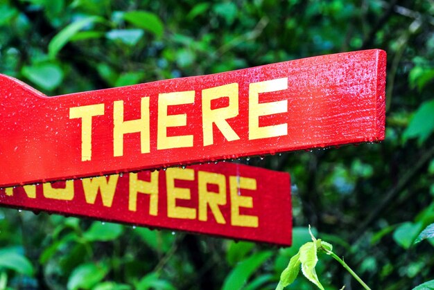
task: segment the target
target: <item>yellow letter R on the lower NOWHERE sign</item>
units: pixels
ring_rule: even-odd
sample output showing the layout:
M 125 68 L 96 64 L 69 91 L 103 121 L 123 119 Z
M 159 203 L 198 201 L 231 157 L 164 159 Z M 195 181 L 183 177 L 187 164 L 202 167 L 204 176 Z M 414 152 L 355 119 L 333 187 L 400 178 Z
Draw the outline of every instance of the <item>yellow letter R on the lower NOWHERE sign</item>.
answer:
M 218 185 L 218 192 L 208 191 L 208 184 Z M 226 204 L 226 177 L 223 174 L 198 172 L 199 220 L 208 220 L 208 205 L 218 224 L 226 224 L 220 208 Z

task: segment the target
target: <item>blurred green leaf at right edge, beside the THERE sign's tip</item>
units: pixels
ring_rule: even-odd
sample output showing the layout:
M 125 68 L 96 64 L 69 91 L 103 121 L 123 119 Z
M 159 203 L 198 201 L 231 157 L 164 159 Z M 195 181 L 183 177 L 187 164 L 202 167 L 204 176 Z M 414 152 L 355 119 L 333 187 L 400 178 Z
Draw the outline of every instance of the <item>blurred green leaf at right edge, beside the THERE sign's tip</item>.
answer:
M 410 120 L 410 124 L 403 133 L 403 140 L 419 138 L 419 144 L 426 141 L 434 129 L 434 99 L 423 102 Z

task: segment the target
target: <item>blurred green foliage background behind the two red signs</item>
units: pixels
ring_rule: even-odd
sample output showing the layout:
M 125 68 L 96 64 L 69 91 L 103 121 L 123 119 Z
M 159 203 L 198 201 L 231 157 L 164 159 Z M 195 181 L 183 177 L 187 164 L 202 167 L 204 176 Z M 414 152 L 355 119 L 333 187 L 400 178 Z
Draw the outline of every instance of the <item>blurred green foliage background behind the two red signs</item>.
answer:
M 272 289 L 308 224 L 374 289 L 434 279 L 433 241 L 413 245 L 434 221 L 433 0 L 0 0 L 0 73 L 53 96 L 365 48 L 388 53 L 383 143 L 243 161 L 290 172 L 293 247 L 3 208 L 0 288 Z

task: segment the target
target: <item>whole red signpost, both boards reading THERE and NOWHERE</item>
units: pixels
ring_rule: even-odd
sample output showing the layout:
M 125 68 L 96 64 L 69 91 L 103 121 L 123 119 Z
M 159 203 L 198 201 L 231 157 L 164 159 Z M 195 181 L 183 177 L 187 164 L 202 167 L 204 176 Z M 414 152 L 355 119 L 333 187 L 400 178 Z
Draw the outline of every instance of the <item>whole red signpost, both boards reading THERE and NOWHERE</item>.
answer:
M 289 174 L 214 161 L 383 140 L 385 52 L 0 98 L 0 204 L 289 246 Z

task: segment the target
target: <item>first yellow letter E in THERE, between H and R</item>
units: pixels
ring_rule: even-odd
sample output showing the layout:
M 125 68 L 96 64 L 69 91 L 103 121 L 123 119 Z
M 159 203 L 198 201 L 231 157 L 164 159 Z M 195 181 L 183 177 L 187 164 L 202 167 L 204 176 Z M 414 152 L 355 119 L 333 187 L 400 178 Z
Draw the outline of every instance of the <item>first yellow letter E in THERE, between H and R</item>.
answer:
M 160 93 L 158 96 L 158 128 L 157 149 L 193 147 L 193 135 L 167 136 L 168 127 L 185 126 L 186 114 L 168 115 L 167 107 L 191 104 L 194 102 L 194 91 L 175 91 Z

